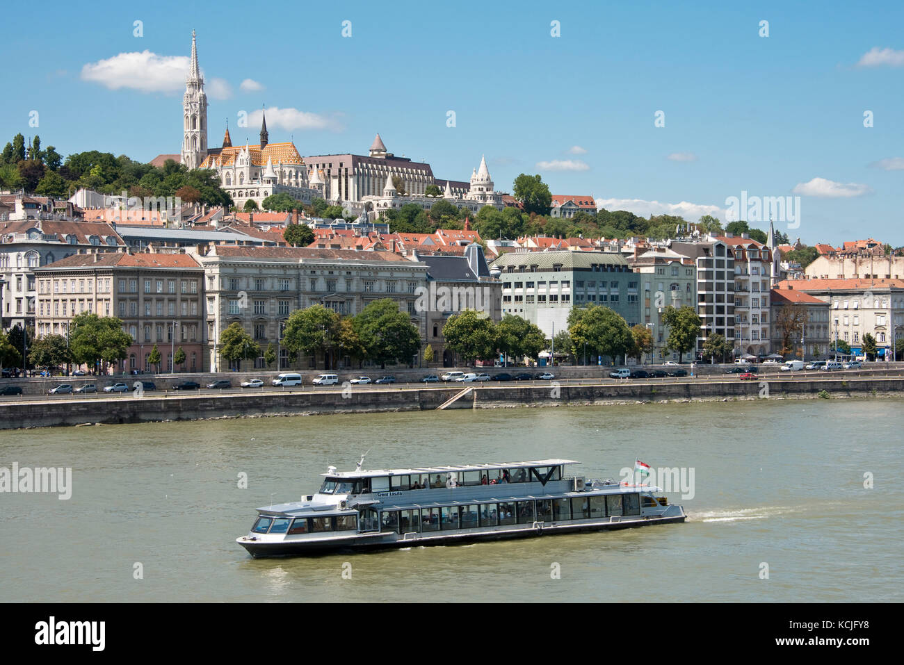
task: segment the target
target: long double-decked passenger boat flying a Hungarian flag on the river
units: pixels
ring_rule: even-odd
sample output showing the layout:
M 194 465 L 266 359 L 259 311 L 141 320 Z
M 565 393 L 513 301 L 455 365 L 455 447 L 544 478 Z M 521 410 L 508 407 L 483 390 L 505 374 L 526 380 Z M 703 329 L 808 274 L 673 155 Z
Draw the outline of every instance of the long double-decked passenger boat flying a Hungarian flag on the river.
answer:
M 572 460 L 350 472 L 331 466 L 319 492 L 258 509 L 252 557 L 408 548 L 683 522 L 655 486 L 566 476 Z

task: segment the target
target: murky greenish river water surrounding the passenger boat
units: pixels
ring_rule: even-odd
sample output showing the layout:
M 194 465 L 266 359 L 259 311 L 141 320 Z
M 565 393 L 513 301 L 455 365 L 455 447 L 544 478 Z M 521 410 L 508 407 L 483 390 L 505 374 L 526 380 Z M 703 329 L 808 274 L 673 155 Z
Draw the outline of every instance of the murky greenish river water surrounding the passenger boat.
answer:
M 0 494 L 0 601 L 899 602 L 902 432 L 902 399 L 0 432 L 0 467 L 72 470 L 68 501 Z M 609 533 L 288 559 L 234 542 L 368 449 L 368 468 L 559 457 L 591 478 L 637 458 L 693 469 L 693 497 L 668 495 L 684 524 Z

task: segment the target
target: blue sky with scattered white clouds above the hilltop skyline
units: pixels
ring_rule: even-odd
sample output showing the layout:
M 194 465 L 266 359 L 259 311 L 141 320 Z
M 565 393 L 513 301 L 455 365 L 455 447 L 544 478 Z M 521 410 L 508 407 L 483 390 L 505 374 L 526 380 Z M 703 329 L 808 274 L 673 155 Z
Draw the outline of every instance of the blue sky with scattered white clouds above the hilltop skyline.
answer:
M 366 154 L 379 132 L 438 178 L 486 155 L 497 190 L 541 173 L 553 193 L 689 220 L 742 191 L 800 196 L 799 228 L 777 223 L 792 239 L 904 245 L 901 3 L 94 3 L 5 19 L 22 29 L 2 47 L 3 143 L 179 152 L 173 58 L 195 29 L 210 145 L 226 117 L 233 143 L 257 143 L 256 117 L 238 118 L 266 104 L 270 140 L 302 155 Z

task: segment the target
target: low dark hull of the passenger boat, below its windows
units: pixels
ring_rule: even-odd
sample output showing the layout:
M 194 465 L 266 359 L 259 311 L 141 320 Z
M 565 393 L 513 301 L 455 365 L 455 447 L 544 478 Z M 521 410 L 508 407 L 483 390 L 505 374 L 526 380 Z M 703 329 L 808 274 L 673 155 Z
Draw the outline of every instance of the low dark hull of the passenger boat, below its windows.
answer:
M 480 530 L 456 530 L 444 532 L 429 532 L 428 534 L 406 534 L 417 536 L 405 538 L 394 532 L 380 534 L 353 534 L 348 538 L 331 539 L 305 539 L 295 541 L 264 542 L 251 540 L 248 537 L 236 539 L 249 554 L 255 558 L 263 557 L 304 557 L 310 555 L 328 554 L 331 552 L 359 552 L 375 551 L 381 549 L 429 547 L 435 545 L 465 545 L 480 541 L 539 538 L 564 533 L 589 533 L 591 531 L 607 531 L 616 529 L 636 529 L 638 527 L 653 526 L 655 524 L 671 524 L 683 522 L 687 516 L 682 511 L 680 515 L 669 517 L 642 517 L 636 520 L 601 520 L 588 523 L 580 522 L 536 522 L 532 525 L 513 525 L 514 529 Z

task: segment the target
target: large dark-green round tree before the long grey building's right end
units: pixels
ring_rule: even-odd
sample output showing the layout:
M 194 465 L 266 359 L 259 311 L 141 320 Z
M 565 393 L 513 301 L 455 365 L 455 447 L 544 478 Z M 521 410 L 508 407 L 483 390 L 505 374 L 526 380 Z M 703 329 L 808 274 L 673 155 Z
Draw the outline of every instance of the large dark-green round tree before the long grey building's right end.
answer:
M 387 362 L 410 363 L 420 350 L 418 327 L 399 304 L 384 298 L 368 304 L 354 317 L 354 331 L 361 338 L 367 357 L 385 367 Z

